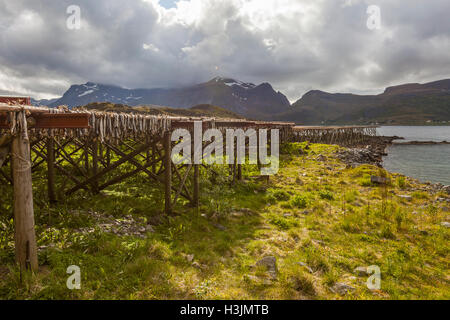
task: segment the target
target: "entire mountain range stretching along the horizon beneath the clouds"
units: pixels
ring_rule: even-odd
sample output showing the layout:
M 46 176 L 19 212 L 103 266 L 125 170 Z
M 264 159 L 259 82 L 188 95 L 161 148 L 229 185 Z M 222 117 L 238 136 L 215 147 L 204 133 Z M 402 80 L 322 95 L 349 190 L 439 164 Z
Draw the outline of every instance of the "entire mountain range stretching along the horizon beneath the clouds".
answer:
M 33 100 L 50 107 L 94 102 L 183 109 L 208 104 L 251 119 L 299 124 L 423 124 L 450 122 L 450 79 L 388 87 L 378 95 L 311 90 L 292 105 L 269 83 L 221 77 L 183 88 L 126 89 L 87 82 L 72 85 L 59 99 Z

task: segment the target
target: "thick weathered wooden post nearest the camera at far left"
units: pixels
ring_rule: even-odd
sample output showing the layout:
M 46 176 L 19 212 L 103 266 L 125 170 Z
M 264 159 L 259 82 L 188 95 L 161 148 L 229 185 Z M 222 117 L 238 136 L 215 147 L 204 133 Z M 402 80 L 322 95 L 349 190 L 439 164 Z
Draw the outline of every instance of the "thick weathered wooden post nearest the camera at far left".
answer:
M 33 186 L 31 180 L 30 141 L 25 114 L 20 113 L 20 132 L 13 138 L 12 171 L 14 180 L 14 240 L 16 261 L 21 270 L 37 271 L 37 246 L 34 230 Z

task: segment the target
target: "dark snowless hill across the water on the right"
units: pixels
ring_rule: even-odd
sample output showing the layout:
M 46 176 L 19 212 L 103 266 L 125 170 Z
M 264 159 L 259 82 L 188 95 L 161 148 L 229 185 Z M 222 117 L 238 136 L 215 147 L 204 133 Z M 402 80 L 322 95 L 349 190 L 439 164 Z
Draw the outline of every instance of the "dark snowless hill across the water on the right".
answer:
M 309 91 L 277 120 L 304 124 L 423 124 L 450 121 L 450 79 L 386 88 L 379 95 Z

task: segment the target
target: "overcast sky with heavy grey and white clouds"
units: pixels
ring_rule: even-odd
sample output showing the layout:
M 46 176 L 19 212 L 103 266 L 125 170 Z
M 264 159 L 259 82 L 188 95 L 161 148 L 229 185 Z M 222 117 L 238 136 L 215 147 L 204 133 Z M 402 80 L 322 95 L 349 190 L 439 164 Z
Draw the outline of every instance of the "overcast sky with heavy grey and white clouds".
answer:
M 80 29 L 68 28 L 71 5 Z M 0 0 L 0 8 L 0 94 L 51 98 L 87 81 L 152 88 L 224 76 L 270 82 L 295 101 L 310 89 L 380 93 L 450 78 L 448 0 Z

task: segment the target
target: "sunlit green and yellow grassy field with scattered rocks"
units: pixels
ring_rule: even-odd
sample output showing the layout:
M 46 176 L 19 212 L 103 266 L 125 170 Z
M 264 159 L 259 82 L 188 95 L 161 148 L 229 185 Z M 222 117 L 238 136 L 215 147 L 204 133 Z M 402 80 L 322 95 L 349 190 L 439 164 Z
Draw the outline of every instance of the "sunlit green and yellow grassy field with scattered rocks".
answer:
M 284 146 L 269 182 L 251 178 L 254 167 L 233 186 L 202 171 L 200 209 L 180 199 L 170 217 L 161 212 L 162 189 L 144 175 L 55 207 L 46 205 L 45 180 L 35 179 L 35 275 L 14 266 L 12 194 L 2 185 L 0 298 L 449 299 L 441 223 L 450 204 L 436 201 L 448 195 L 374 166 L 347 168 L 338 148 Z M 392 183 L 372 185 L 371 175 Z M 266 256 L 276 258 L 276 276 L 258 265 Z M 80 290 L 66 287 L 70 265 L 81 269 Z M 354 271 L 372 265 L 379 290 Z

